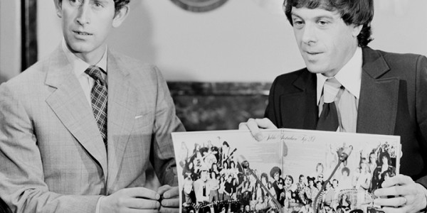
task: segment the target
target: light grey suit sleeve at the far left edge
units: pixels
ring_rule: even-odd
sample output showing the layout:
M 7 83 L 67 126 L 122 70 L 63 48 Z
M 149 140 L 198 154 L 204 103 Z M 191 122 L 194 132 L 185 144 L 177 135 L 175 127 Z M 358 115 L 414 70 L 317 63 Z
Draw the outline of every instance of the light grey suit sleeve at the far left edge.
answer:
M 100 196 L 49 192 L 33 123 L 13 91 L 0 85 L 0 197 L 12 212 L 95 212 Z

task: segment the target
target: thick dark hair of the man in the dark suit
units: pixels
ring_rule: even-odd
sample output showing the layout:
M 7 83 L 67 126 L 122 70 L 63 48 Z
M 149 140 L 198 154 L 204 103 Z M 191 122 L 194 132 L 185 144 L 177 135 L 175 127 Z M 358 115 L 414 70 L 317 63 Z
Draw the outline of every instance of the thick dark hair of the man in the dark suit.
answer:
M 284 0 L 283 9 L 288 21 L 293 26 L 292 7 L 338 11 L 347 25 L 362 25 L 362 31 L 357 35 L 359 47 L 366 47 L 373 40 L 371 38 L 371 21 L 374 18 L 374 2 L 372 0 Z

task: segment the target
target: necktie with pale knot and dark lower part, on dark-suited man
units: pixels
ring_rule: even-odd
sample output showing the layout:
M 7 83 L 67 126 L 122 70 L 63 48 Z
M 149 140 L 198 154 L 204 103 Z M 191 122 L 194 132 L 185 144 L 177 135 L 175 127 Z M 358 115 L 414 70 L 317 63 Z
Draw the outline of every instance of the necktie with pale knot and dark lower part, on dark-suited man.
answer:
M 317 121 L 317 130 L 337 131 L 339 126 L 337 106 L 334 103 L 341 84 L 333 77 L 323 86 L 323 109 Z

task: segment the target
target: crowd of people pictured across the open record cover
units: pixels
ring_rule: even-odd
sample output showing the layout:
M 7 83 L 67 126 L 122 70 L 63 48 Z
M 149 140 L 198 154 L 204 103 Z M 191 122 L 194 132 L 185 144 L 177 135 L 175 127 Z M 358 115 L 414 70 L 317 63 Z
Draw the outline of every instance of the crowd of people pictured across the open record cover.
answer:
M 357 168 L 342 165 L 328 182 L 322 163 L 294 181 L 277 165 L 244 168 L 236 151 L 227 141 L 221 147 L 195 143 L 191 152 L 181 143 L 183 212 L 375 212 L 371 192 L 396 175 L 396 156 L 387 143 L 368 156 L 361 151 Z

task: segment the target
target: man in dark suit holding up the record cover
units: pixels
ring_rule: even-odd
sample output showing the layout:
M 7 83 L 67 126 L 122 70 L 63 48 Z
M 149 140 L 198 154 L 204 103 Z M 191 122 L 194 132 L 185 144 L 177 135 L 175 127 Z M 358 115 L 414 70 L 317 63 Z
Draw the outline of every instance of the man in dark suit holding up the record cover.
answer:
M 265 118 L 239 129 L 258 140 L 258 127 L 400 136 L 403 175 L 384 181 L 375 203 L 386 212 L 426 208 L 427 58 L 367 46 L 373 0 L 285 0 L 283 8 L 306 67 L 277 77 Z

